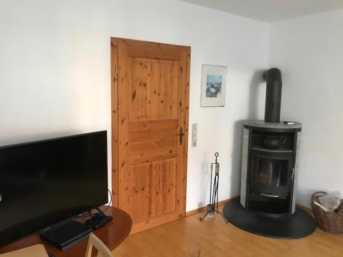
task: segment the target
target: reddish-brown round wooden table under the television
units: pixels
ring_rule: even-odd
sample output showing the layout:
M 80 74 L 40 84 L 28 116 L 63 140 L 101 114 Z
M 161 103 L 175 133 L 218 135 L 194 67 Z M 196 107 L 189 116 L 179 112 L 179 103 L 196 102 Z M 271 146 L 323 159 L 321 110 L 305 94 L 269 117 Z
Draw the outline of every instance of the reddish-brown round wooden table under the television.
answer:
M 102 210 L 104 210 L 106 207 L 107 206 L 102 206 Z M 111 251 L 113 251 L 115 247 L 120 245 L 128 236 L 128 234 L 130 234 L 132 228 L 132 219 L 123 210 L 111 206 L 105 211 L 105 213 L 106 215 L 112 216 L 113 220 L 104 225 L 104 227 L 95 230 L 94 234 L 99 237 L 100 240 L 104 242 L 104 244 L 107 245 Z M 82 219 L 78 219 L 78 221 L 82 221 Z M 86 255 L 87 243 L 88 241 L 84 240 L 62 252 L 54 246 L 49 245 L 49 243 L 41 241 L 38 234 L 33 234 L 21 239 L 20 241 L 5 247 L 1 247 L 0 254 L 12 252 L 14 250 L 29 247 L 31 245 L 43 244 L 47 252 L 54 254 L 56 257 L 83 257 Z

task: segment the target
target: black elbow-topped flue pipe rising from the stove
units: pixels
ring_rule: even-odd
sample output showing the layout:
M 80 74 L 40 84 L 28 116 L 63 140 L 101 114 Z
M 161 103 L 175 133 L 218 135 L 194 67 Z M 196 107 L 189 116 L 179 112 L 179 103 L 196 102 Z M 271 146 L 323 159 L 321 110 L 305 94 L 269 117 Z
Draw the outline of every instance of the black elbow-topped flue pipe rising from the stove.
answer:
M 282 79 L 281 71 L 276 68 L 269 69 L 263 73 L 263 77 L 267 82 L 265 92 L 265 122 L 280 122 L 281 111 L 281 91 Z

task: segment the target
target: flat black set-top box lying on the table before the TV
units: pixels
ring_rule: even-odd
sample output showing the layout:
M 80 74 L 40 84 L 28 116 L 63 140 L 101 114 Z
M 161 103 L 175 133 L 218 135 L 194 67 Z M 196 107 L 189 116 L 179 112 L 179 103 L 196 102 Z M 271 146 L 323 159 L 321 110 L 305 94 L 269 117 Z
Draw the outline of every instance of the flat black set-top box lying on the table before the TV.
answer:
M 87 225 L 67 219 L 40 232 L 40 238 L 64 251 L 86 239 L 91 232 L 92 228 Z

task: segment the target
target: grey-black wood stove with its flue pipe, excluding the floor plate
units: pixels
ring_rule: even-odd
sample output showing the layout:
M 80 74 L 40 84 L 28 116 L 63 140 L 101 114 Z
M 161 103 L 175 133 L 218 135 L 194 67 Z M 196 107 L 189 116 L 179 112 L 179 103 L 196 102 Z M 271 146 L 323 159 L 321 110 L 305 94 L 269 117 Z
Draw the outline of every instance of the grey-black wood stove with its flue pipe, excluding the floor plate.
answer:
M 264 73 L 265 120 L 244 121 L 241 205 L 266 217 L 290 217 L 296 210 L 300 123 L 280 121 L 281 71 Z

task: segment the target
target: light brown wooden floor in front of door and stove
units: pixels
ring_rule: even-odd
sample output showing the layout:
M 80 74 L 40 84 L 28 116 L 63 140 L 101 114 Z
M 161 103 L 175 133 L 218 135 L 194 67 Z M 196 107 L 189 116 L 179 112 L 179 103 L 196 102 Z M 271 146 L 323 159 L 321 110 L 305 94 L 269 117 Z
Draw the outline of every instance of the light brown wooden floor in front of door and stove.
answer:
M 194 214 L 129 236 L 115 257 L 163 256 L 343 256 L 343 235 L 318 229 L 300 239 L 281 240 L 250 234 L 222 217 L 199 221 Z

